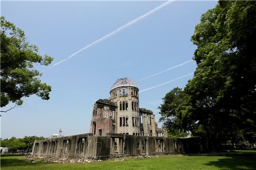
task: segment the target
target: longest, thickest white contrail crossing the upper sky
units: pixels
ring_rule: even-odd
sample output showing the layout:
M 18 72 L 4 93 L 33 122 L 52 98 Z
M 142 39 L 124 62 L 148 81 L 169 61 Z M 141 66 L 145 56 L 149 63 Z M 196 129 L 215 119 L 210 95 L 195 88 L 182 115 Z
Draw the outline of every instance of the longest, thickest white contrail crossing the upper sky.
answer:
M 100 39 L 94 41 L 93 43 L 90 43 L 89 45 L 87 45 L 87 46 L 81 48 L 79 51 L 74 52 L 73 54 L 71 54 L 70 56 L 68 56 L 67 59 L 64 59 L 64 60 L 61 60 L 60 62 L 55 63 L 54 65 L 50 66 L 50 68 L 51 68 L 51 67 L 54 67 L 54 66 L 56 66 L 56 65 L 59 65 L 60 63 L 62 63 L 62 62 L 64 62 L 64 61 L 67 61 L 68 59 L 74 57 L 76 54 L 80 53 L 81 51 L 84 51 L 85 49 L 87 49 L 87 48 L 93 46 L 94 44 L 99 43 L 99 42 L 101 42 L 101 41 L 103 41 L 103 40 L 109 38 L 110 36 L 113 36 L 114 34 L 118 33 L 118 32 L 121 31 L 122 29 L 125 29 L 126 27 L 128 27 L 128 26 L 130 26 L 130 25 L 132 25 L 132 24 L 134 24 L 134 23 L 136 23 L 136 22 L 138 22 L 139 20 L 141 20 L 141 19 L 147 17 L 148 15 L 150 15 L 150 14 L 152 14 L 152 13 L 154 13 L 154 12 L 160 10 L 162 7 L 165 7 L 166 5 L 170 4 L 170 3 L 173 2 L 173 1 L 174 1 L 174 0 L 169 0 L 169 1 L 167 1 L 167 2 L 165 2 L 165 3 L 163 3 L 163 4 L 161 4 L 161 5 L 159 5 L 158 7 L 156 7 L 156 8 L 154 8 L 153 10 L 147 12 L 146 14 L 143 14 L 143 15 L 141 15 L 140 17 L 138 17 L 138 18 L 132 20 L 131 22 L 128 22 L 128 23 L 126 23 L 125 25 L 119 27 L 118 29 L 114 30 L 112 33 L 109 33 L 109 34 L 103 36 L 102 38 L 100 38 Z

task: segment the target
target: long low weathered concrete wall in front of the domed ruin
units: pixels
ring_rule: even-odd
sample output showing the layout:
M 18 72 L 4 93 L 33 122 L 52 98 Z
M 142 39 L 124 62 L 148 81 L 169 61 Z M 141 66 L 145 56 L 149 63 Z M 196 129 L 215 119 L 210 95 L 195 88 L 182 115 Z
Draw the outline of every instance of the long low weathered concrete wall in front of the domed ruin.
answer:
M 121 156 L 181 154 L 188 152 L 188 147 L 195 144 L 197 141 L 194 139 L 112 133 L 106 136 L 79 134 L 35 141 L 32 155 L 68 159 L 110 159 Z

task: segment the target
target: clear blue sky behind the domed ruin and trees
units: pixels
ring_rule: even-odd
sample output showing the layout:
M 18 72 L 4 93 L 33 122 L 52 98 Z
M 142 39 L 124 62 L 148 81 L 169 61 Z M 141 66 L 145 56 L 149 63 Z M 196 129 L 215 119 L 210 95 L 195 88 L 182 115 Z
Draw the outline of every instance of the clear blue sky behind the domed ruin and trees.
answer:
M 51 65 L 117 28 L 151 11 L 164 1 L 1 1 L 1 16 L 25 32 L 40 54 L 54 58 Z M 200 16 L 217 1 L 175 1 L 102 42 L 43 72 L 42 82 L 52 87 L 50 99 L 24 98 L 23 107 L 1 116 L 1 137 L 49 137 L 89 133 L 94 101 L 109 98 L 118 78 L 130 77 L 139 90 L 154 87 L 194 72 L 196 46 L 190 41 Z M 159 119 L 158 106 L 174 87 L 183 88 L 192 75 L 145 90 L 139 107 Z M 8 105 L 4 109 L 8 109 Z M 161 125 L 161 123 L 158 123 Z

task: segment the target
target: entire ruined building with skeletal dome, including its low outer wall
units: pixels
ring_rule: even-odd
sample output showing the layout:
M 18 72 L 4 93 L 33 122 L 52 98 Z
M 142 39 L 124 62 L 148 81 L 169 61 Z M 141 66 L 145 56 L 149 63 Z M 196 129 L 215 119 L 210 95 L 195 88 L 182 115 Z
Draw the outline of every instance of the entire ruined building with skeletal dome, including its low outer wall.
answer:
M 193 149 L 193 150 L 191 150 Z M 139 89 L 130 78 L 118 79 L 108 99 L 92 108 L 90 133 L 34 141 L 32 155 L 68 159 L 110 159 L 200 152 L 197 139 L 169 138 L 151 110 L 139 108 Z

